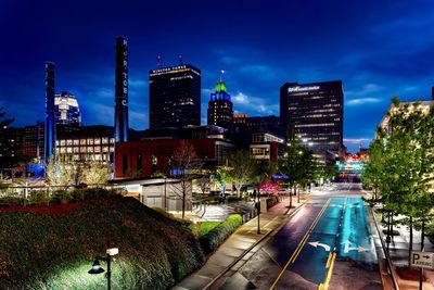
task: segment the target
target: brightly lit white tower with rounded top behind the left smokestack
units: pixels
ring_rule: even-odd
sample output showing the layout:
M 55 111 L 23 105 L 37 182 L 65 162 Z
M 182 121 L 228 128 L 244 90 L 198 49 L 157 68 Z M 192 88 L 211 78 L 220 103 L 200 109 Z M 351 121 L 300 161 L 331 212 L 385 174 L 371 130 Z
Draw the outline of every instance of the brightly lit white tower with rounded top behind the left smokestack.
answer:
M 55 123 L 61 125 L 81 125 L 81 113 L 78 101 L 67 91 L 54 97 Z

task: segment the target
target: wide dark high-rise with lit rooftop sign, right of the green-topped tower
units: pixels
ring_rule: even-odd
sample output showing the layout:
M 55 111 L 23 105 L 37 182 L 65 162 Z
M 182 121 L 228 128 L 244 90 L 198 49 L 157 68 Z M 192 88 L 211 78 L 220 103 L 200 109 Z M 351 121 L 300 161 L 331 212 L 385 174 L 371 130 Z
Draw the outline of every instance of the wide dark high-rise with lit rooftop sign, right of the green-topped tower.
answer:
M 280 118 L 285 133 L 317 153 L 343 147 L 344 92 L 342 80 L 286 83 L 280 88 Z

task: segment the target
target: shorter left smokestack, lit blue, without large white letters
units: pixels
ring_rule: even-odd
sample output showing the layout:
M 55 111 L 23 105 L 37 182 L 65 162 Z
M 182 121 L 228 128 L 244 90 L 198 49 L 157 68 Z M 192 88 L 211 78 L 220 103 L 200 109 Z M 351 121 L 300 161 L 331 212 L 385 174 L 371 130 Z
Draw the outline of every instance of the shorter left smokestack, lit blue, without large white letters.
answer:
M 46 129 L 43 142 L 43 161 L 46 164 L 55 156 L 54 67 L 53 62 L 46 63 Z

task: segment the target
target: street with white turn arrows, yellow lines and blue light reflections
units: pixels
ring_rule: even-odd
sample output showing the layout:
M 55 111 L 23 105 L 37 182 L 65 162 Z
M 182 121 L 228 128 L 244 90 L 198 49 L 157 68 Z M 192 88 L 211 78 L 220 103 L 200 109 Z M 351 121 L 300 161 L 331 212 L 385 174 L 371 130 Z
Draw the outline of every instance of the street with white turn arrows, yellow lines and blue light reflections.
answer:
M 339 261 L 376 273 L 366 209 L 352 184 L 314 192 L 219 289 L 318 289 L 328 283 L 331 265 Z

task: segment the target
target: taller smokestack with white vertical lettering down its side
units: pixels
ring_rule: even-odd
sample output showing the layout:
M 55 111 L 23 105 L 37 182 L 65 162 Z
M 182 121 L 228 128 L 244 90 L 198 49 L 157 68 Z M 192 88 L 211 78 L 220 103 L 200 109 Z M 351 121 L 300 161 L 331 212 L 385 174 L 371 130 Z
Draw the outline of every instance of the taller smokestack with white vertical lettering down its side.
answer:
M 128 48 L 124 37 L 116 37 L 115 141 L 128 141 Z

